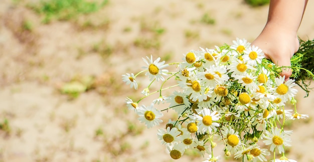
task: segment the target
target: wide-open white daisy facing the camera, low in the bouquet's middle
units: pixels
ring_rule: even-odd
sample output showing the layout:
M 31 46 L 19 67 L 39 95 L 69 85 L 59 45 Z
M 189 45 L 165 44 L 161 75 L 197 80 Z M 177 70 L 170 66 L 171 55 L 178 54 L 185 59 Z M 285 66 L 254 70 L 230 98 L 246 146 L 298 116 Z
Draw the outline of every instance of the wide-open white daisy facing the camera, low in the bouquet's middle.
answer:
M 217 121 L 219 120 L 219 113 L 217 111 L 213 111 L 211 113 L 211 110 L 209 108 L 204 108 L 200 111 L 198 114 L 194 114 L 194 115 L 190 115 L 190 117 L 192 119 L 197 120 L 197 124 L 198 124 L 198 132 L 200 133 L 205 133 L 205 132 L 209 132 L 211 133 L 212 130 L 216 131 L 216 127 L 219 126 L 219 123 L 217 122 L 213 122 L 213 121 Z

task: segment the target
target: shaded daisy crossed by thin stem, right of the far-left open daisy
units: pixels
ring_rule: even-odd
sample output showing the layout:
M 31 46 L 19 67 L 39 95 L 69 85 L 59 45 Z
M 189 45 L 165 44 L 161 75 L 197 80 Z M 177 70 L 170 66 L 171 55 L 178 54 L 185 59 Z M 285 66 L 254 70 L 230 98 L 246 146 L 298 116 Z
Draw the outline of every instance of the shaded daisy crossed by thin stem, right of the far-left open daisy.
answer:
M 190 106 L 189 99 L 186 95 L 185 92 L 174 91 L 167 100 L 167 102 L 170 103 L 169 107 L 174 109 L 178 114 L 182 114 L 182 112 Z

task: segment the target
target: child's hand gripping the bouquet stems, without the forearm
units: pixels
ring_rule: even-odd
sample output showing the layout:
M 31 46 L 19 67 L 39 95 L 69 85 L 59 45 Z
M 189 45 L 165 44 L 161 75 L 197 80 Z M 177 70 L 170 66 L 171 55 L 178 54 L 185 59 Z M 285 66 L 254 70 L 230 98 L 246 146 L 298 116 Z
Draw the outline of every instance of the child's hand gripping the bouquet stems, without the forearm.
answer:
M 267 23 L 252 44 L 261 48 L 266 58 L 280 66 L 291 66 L 290 58 L 299 48 L 296 32 L 276 23 Z M 285 80 L 291 74 L 290 68 L 282 69 L 281 76 L 285 76 Z

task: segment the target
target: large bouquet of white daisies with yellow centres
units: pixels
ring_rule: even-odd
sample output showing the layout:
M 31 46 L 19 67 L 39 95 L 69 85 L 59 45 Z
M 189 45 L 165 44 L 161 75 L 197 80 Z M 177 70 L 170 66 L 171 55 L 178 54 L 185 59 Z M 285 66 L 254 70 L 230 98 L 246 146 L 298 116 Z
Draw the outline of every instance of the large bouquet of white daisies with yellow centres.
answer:
M 191 50 L 178 63 L 165 64 L 160 57 L 154 60 L 152 56 L 143 61 L 144 70 L 122 75 L 123 81 L 137 89 L 136 76 L 145 72 L 150 83 L 141 91 L 143 97 L 138 101 L 126 98 L 126 103 L 148 128 L 159 125 L 169 109 L 178 113 L 177 119 L 169 119 L 157 132 L 174 159 L 179 159 L 186 149 L 194 149 L 204 157 L 208 154 L 206 161 L 217 161 L 213 148 L 220 142 L 226 156 L 243 161 L 267 161 L 270 152 L 273 157 L 278 152 L 280 160 L 284 160 L 284 148 L 291 145 L 292 133 L 284 129 L 285 120 L 308 117 L 296 110 L 294 79 L 285 81 L 280 76 L 282 67 L 265 59 L 262 50 L 245 39 L 237 38 L 232 45 L 214 49 Z M 175 65 L 176 70 L 166 69 L 170 65 Z M 163 87 L 170 78 L 176 84 Z M 154 82 L 161 82 L 161 88 L 150 92 Z M 179 90 L 163 95 L 175 86 Z M 150 105 L 139 104 L 152 94 L 159 96 Z M 164 109 L 154 106 L 165 102 L 169 106 Z M 294 110 L 285 109 L 287 102 Z M 261 144 L 269 146 L 262 148 Z

